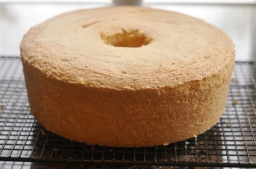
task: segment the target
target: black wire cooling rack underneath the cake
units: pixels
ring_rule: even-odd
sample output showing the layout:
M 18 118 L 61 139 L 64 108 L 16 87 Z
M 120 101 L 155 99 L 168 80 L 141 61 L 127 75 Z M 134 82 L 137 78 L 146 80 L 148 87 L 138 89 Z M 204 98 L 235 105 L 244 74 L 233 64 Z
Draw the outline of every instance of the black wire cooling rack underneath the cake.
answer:
M 19 57 L 0 57 L 0 161 L 256 167 L 256 68 L 237 62 L 226 111 L 211 129 L 167 146 L 118 148 L 70 141 L 30 114 Z

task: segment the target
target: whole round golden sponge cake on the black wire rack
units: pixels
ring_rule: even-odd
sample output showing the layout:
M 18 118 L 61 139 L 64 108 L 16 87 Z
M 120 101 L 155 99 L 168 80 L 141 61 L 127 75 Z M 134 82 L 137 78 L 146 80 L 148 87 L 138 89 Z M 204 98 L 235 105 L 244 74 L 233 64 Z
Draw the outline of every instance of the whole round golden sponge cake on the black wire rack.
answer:
M 45 129 L 104 146 L 154 146 L 224 113 L 232 40 L 184 14 L 119 6 L 61 14 L 20 44 L 31 112 Z

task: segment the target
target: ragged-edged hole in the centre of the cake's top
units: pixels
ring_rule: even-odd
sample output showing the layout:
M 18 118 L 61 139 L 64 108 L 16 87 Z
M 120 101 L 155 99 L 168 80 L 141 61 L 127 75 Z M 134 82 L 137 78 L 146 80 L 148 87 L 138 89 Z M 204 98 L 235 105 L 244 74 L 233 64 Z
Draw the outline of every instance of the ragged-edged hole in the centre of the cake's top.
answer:
M 102 32 L 101 38 L 105 44 L 128 48 L 138 48 L 148 45 L 153 40 L 152 37 L 138 30 L 131 32 L 126 32 L 123 30 L 122 33 L 113 35 L 106 35 Z

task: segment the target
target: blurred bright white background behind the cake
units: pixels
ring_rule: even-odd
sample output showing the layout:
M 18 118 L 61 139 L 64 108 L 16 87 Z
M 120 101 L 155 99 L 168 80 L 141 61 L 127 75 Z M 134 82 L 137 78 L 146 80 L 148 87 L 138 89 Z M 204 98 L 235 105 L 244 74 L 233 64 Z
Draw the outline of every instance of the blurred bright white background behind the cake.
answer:
M 223 29 L 236 45 L 236 61 L 252 61 L 255 53 L 255 0 L 144 0 L 141 6 L 178 11 Z M 220 3 L 221 2 L 221 3 Z M 111 6 L 111 0 L 1 0 L 0 55 L 18 56 L 19 44 L 32 26 L 63 12 Z M 255 59 L 256 60 L 256 59 Z

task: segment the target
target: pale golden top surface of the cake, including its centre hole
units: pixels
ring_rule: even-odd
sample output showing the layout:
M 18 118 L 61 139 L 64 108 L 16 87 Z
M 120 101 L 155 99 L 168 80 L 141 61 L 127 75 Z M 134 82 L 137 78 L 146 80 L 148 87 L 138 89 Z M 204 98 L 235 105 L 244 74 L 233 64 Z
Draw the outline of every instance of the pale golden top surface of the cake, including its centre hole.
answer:
M 232 40 L 184 14 L 106 7 L 61 14 L 31 28 L 23 61 L 47 77 L 88 87 L 174 87 L 218 73 L 233 62 Z

